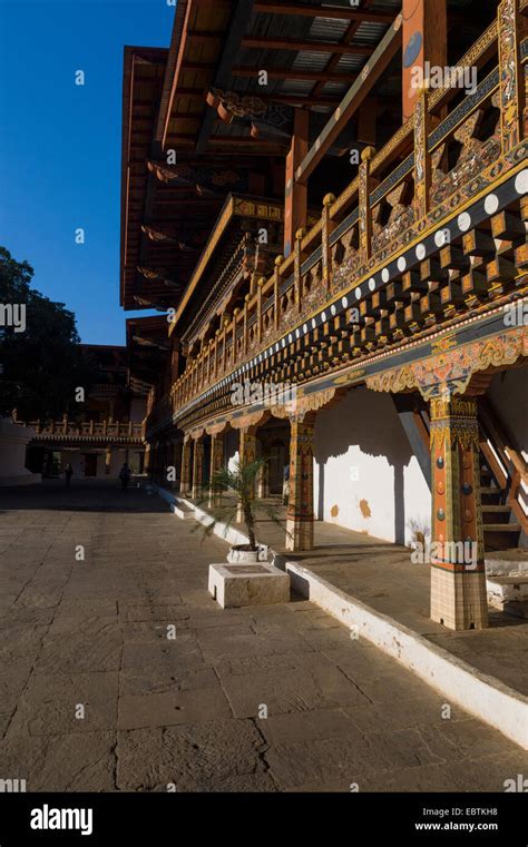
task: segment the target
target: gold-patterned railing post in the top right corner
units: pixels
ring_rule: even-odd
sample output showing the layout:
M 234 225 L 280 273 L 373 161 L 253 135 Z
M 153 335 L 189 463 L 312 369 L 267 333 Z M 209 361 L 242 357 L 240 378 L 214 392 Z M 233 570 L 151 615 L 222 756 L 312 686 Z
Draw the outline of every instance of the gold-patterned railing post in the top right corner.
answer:
M 520 13 L 520 0 L 499 4 L 500 126 L 502 152 L 517 147 L 525 137 L 526 78 L 520 46 L 528 35 L 528 19 Z

